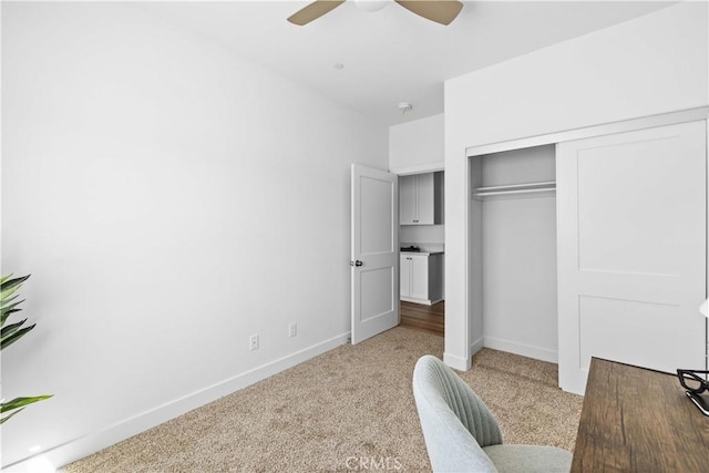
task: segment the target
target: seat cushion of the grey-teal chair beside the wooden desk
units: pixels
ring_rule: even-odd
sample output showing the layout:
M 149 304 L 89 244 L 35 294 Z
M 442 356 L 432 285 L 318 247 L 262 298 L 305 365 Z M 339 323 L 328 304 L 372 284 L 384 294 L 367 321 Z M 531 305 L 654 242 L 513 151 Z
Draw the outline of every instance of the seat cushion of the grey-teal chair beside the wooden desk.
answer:
M 500 473 L 567 473 L 572 454 L 555 446 L 501 444 L 483 451 Z

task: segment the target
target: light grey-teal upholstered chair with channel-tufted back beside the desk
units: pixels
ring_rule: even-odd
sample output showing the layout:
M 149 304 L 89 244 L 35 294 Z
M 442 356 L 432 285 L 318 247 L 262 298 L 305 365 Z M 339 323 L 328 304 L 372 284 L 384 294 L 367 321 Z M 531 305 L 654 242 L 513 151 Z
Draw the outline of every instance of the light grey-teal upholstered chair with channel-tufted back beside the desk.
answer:
M 413 370 L 413 395 L 434 472 L 568 472 L 555 446 L 503 444 L 497 421 L 458 374 L 430 354 Z

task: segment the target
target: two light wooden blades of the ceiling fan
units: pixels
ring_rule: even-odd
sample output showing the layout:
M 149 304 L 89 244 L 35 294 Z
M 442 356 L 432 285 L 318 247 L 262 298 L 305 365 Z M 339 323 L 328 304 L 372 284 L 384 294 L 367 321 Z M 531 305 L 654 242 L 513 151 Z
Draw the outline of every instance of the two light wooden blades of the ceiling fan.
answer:
M 463 3 L 458 0 L 394 0 L 407 10 L 427 20 L 450 24 L 458 17 Z M 345 3 L 345 0 L 316 0 L 288 18 L 294 24 L 302 27 Z

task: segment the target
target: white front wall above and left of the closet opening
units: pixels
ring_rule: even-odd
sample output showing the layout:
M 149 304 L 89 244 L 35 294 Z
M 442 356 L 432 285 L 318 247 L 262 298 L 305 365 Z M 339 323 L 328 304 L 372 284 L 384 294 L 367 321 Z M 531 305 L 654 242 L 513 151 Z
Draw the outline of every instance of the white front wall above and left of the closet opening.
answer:
M 703 106 L 706 2 L 685 2 L 445 83 L 445 361 L 470 367 L 467 147 Z

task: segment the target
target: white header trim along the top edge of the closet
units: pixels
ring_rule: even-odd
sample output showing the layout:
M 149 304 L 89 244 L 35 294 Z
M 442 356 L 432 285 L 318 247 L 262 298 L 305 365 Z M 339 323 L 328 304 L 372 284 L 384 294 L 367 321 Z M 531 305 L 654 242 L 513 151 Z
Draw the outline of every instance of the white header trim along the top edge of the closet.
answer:
M 656 126 L 674 125 L 677 123 L 693 122 L 697 120 L 707 120 L 707 117 L 709 117 L 709 106 L 700 106 L 697 109 L 688 109 L 679 112 L 662 113 L 659 115 L 643 116 L 633 120 L 624 120 L 620 122 L 586 126 L 583 128 L 566 130 L 563 132 L 472 146 L 465 150 L 465 154 L 467 157 L 473 157 L 483 154 L 521 150 L 531 146 L 542 146 L 572 140 L 582 140 L 593 136 L 602 136 L 614 133 L 653 128 Z

